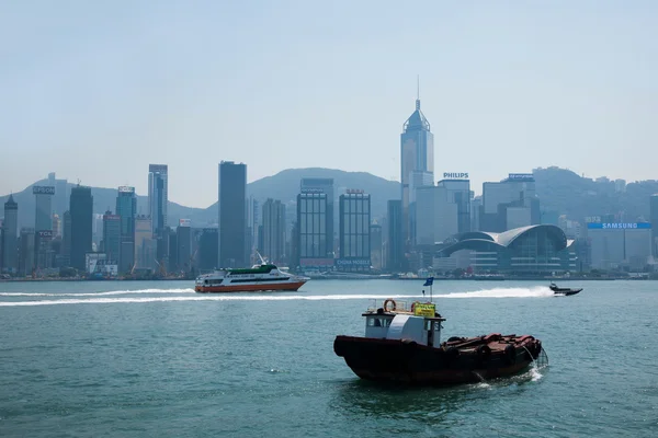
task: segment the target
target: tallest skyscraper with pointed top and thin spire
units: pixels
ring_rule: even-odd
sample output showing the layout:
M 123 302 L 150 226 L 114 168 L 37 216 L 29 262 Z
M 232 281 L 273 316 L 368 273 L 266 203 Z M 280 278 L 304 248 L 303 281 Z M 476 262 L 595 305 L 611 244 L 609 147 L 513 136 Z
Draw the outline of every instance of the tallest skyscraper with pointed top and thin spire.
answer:
M 400 181 L 402 200 L 402 235 L 410 240 L 409 204 L 412 199 L 411 178 L 415 173 L 434 173 L 434 136 L 430 131 L 430 123 L 420 111 L 420 93 L 416 99 L 416 111 L 409 116 L 400 135 Z

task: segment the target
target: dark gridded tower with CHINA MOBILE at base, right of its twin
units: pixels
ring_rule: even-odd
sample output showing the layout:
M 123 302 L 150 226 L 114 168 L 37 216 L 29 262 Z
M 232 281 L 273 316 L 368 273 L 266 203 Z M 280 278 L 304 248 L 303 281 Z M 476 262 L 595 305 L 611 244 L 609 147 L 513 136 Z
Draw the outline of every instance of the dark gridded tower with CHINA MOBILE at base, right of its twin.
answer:
M 338 270 L 371 269 L 371 198 L 361 189 L 348 189 L 339 197 Z

